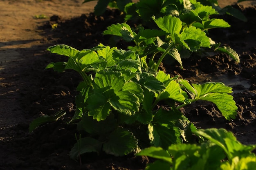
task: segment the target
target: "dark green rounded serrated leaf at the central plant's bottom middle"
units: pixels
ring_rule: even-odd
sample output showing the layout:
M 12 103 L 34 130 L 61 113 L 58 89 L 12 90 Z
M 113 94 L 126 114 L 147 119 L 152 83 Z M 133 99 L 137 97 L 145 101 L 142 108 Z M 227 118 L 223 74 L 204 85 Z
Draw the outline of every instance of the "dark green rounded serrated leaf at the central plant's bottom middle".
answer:
M 138 141 L 131 132 L 124 128 L 113 131 L 108 141 L 103 144 L 103 151 L 115 156 L 123 156 L 134 151 L 138 147 Z

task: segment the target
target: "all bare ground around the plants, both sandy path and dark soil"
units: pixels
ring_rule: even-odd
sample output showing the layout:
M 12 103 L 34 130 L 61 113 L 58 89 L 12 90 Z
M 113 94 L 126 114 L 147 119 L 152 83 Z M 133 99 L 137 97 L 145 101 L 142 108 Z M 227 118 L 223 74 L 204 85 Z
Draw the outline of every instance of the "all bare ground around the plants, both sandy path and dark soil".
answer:
M 59 109 L 74 114 L 76 86 L 81 81 L 72 71 L 45 70 L 49 62 L 65 57 L 49 54 L 48 46 L 67 44 L 88 49 L 99 43 L 108 45 L 101 33 L 122 20 L 117 10 L 93 15 L 96 2 L 83 0 L 1 0 L 0 1 L 0 170 L 142 170 L 147 157 L 85 157 L 82 165 L 68 156 L 76 142 L 74 126 L 63 121 L 47 124 L 29 133 L 36 117 L 52 115 Z M 220 1 L 221 7 L 234 0 Z M 243 144 L 256 144 L 256 7 L 255 1 L 234 4 L 247 17 L 242 22 L 229 15 L 220 16 L 231 28 L 209 31 L 216 42 L 230 46 L 240 55 L 240 63 L 225 54 L 184 59 L 162 69 L 180 75 L 191 83 L 224 82 L 233 88 L 238 115 L 225 120 L 216 106 L 196 103 L 181 111 L 198 128 L 226 128 Z M 45 19 L 36 19 L 44 14 Z M 57 28 L 52 26 L 57 24 Z M 125 43 L 117 44 L 125 48 Z

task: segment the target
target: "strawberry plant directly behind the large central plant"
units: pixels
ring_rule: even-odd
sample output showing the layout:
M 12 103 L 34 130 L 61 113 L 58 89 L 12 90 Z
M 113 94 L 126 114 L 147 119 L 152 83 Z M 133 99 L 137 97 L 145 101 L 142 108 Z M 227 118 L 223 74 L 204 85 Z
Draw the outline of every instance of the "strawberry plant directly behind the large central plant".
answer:
M 220 43 L 213 42 L 204 32 L 204 30 L 214 27 L 214 24 L 211 24 L 212 22 L 215 23 L 215 26 L 228 26 L 222 20 L 212 20 L 208 24 L 205 22 L 201 29 L 193 25 L 184 27 L 180 18 L 171 15 L 157 19 L 153 17 L 153 20 L 159 29 L 144 29 L 141 26 L 135 32 L 128 24 L 121 23 L 108 26 L 103 34 L 116 35 L 127 42 L 134 42 L 135 46 L 129 46 L 128 49 L 139 54 L 144 67 L 151 67 L 156 71 L 165 56 L 173 57 L 182 66 L 182 55 L 183 57 L 186 55 L 189 57 L 191 52 L 200 50 L 203 52 L 202 48 L 211 48 L 213 51 L 227 53 L 239 62 L 239 56 L 233 49 L 226 46 L 220 47 Z M 160 55 L 159 60 L 155 63 L 154 59 L 157 53 L 160 53 Z

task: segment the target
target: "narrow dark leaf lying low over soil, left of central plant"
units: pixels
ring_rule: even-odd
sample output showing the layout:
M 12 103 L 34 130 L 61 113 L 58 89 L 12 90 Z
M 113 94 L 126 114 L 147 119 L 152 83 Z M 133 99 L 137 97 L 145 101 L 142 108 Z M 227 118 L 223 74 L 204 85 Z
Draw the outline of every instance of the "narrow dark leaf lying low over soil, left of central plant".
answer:
M 57 121 L 59 118 L 63 117 L 65 114 L 66 112 L 64 110 L 59 110 L 57 113 L 55 113 L 52 116 L 45 115 L 42 117 L 38 117 L 33 121 L 31 121 L 31 123 L 29 124 L 29 132 L 32 132 L 33 130 L 38 128 L 40 125 L 43 125 L 45 123 Z

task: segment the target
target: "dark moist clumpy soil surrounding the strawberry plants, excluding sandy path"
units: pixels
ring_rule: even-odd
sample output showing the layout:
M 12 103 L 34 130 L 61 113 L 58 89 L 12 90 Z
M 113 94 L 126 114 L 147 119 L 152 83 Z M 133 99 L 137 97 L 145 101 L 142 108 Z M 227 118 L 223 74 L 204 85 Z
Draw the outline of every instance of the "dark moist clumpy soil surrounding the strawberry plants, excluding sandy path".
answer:
M 240 56 L 239 64 L 222 53 L 204 57 L 195 54 L 183 59 L 183 69 L 176 62 L 162 64 L 161 68 L 191 83 L 224 82 L 231 86 L 238 106 L 236 119 L 227 121 L 210 103 L 195 103 L 181 111 L 197 128 L 225 128 L 243 144 L 256 144 L 256 29 L 253 26 L 256 10 L 255 7 L 233 7 L 242 11 L 248 21 L 243 22 L 230 15 L 216 16 L 226 20 L 231 28 L 210 30 L 209 37 L 234 49 Z M 76 142 L 76 127 L 65 124 L 65 119 L 28 132 L 30 121 L 39 116 L 53 115 L 64 109 L 66 118 L 72 117 L 76 86 L 81 81 L 80 75 L 73 71 L 56 73 L 45 70 L 49 62 L 67 60 L 45 49 L 54 44 L 67 44 L 79 50 L 99 43 L 109 45 L 110 37 L 103 36 L 102 32 L 122 19 L 118 10 L 108 9 L 102 16 L 90 13 L 70 20 L 54 15 L 38 28 L 45 37 L 44 45 L 24 52 L 27 60 L 19 62 L 12 70 L 13 81 L 22 82 L 17 95 L 19 106 L 13 106 L 13 112 L 21 110 L 26 119 L 18 125 L 1 128 L 4 139 L 0 141 L 0 170 L 143 170 L 152 161 L 148 157 L 133 155 L 85 155 L 80 165 L 79 161 L 68 156 Z M 52 31 L 54 23 L 58 27 Z M 122 49 L 127 45 L 122 41 L 117 44 Z M 7 73 L 1 71 L 1 74 Z

